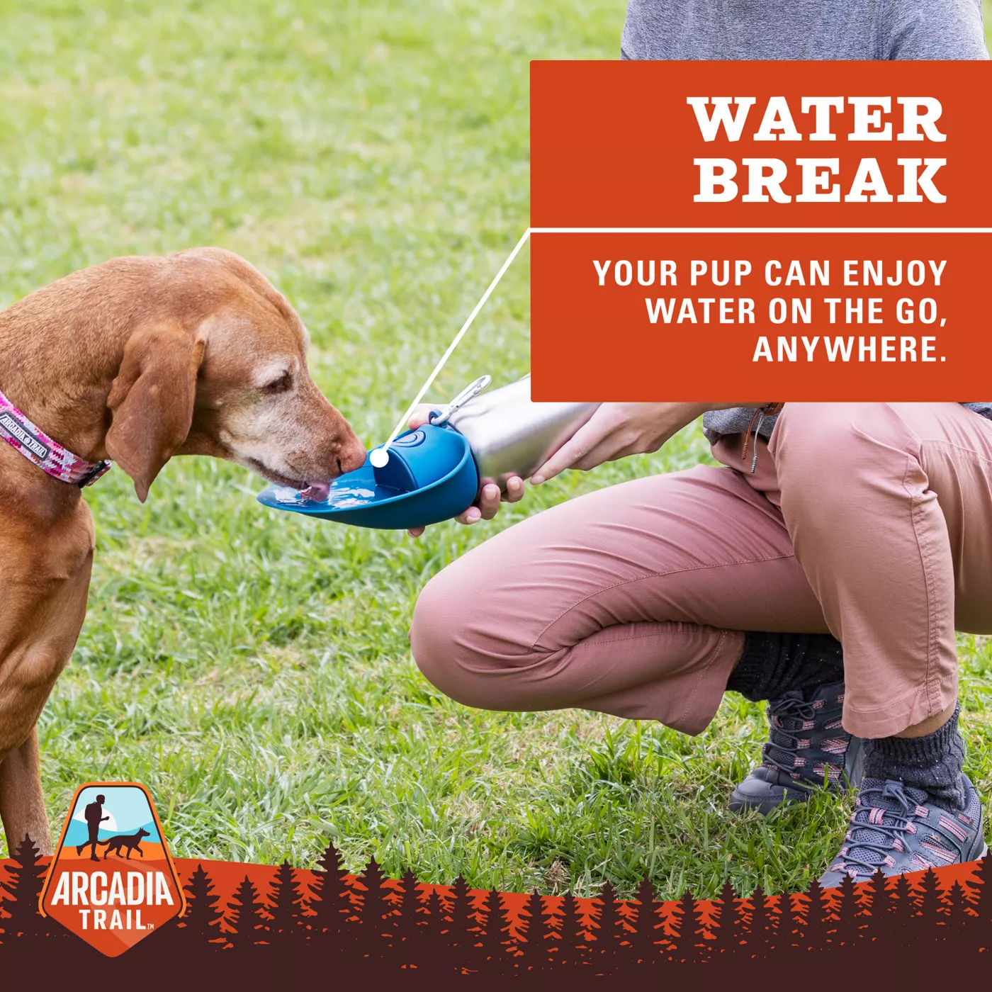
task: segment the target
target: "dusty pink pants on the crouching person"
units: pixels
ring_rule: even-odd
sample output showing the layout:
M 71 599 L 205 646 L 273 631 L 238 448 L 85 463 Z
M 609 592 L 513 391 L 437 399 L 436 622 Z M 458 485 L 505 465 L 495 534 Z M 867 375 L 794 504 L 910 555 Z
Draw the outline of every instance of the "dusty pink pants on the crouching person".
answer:
M 411 630 L 470 706 L 578 706 L 698 733 L 743 631 L 831 632 L 844 727 L 886 737 L 957 694 L 955 629 L 992 632 L 992 422 L 955 404 L 787 404 L 758 469 L 589 493 L 454 561 Z

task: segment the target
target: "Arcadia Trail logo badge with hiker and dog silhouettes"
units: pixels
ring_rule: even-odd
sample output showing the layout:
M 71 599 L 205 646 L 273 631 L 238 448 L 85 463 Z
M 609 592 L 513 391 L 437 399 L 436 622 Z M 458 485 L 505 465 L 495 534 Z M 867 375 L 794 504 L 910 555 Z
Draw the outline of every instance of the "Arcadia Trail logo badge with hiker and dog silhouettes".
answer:
M 42 915 L 116 957 L 185 908 L 145 787 L 97 782 L 78 789 L 42 889 Z

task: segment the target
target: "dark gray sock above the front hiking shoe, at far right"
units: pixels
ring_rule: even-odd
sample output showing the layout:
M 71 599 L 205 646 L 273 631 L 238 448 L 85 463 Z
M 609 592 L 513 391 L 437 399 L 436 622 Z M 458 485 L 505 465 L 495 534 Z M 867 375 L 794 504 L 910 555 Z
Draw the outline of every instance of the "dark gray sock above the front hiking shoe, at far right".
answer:
M 894 779 L 923 789 L 936 806 L 964 808 L 961 769 L 964 740 L 957 729 L 960 705 L 942 726 L 925 737 L 878 737 L 865 741 L 866 779 Z

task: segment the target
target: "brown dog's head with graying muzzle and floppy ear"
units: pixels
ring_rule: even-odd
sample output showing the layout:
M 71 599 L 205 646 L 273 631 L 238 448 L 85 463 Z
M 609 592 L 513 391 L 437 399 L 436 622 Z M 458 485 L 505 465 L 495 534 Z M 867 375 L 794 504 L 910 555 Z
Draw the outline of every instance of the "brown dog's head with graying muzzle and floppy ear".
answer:
M 165 260 L 125 346 L 106 449 L 144 502 L 173 454 L 207 454 L 272 482 L 323 487 L 365 449 L 307 370 L 307 330 L 231 252 Z

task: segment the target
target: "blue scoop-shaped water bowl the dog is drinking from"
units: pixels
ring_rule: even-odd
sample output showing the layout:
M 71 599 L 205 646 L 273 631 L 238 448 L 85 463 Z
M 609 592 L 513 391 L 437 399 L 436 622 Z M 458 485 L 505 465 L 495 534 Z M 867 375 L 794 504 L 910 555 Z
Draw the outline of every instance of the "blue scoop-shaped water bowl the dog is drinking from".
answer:
M 383 468 L 366 455 L 361 468 L 334 479 L 325 501 L 284 486 L 263 490 L 258 501 L 318 520 L 395 531 L 456 517 L 472 505 L 478 489 L 468 441 L 452 428 L 425 425 L 393 441 Z

